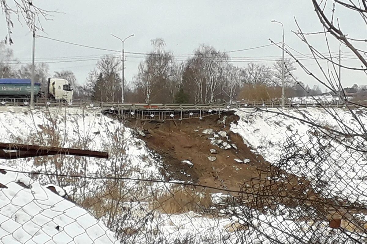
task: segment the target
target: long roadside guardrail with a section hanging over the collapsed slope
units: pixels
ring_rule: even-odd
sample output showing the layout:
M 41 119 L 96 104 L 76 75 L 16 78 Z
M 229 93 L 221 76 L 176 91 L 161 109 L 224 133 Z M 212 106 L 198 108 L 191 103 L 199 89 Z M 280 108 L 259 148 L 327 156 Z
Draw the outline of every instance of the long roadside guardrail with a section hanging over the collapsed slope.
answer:
M 1 101 L 3 106 L 29 106 L 29 102 Z M 237 102 L 233 104 L 140 104 L 140 103 L 119 103 L 103 101 L 83 101 L 58 102 L 54 100 L 36 99 L 36 107 L 84 107 L 100 108 L 105 113 L 130 117 L 139 120 L 183 120 L 193 118 L 204 118 L 212 116 L 230 109 L 250 109 L 250 108 L 281 108 L 281 101 L 250 101 Z M 367 105 L 367 103 L 366 103 Z M 341 108 L 344 104 L 338 102 L 315 101 L 313 103 L 286 103 L 286 108 L 309 108 L 309 107 L 333 107 Z

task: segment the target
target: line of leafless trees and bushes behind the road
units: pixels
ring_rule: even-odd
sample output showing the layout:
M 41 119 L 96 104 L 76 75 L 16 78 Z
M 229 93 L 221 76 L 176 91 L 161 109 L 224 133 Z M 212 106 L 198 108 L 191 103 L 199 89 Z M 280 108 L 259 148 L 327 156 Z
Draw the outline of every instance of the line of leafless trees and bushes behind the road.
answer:
M 152 50 L 124 89 L 125 102 L 210 104 L 281 97 L 281 60 L 272 66 L 248 63 L 237 67 L 228 53 L 210 45 L 200 45 L 183 59 L 167 51 L 162 38 L 151 44 Z M 32 65 L 18 62 L 4 42 L 0 42 L 0 48 L 0 78 L 30 78 Z M 120 102 L 121 63 L 120 57 L 103 56 L 82 85 L 78 85 L 71 70 L 56 71 L 53 76 L 69 80 L 75 99 Z M 285 64 L 287 97 L 321 94 L 318 86 L 310 88 L 294 76 L 294 61 L 286 59 Z M 35 74 L 46 88 L 50 76 L 47 63 L 37 63 Z

